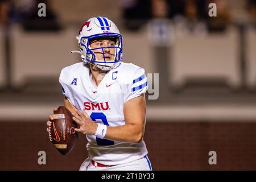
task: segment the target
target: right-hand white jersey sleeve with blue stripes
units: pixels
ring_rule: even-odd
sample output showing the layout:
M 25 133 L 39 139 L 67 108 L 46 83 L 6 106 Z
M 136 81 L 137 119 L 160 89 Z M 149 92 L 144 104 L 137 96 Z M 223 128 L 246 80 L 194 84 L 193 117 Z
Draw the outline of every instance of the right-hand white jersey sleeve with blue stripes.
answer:
M 147 91 L 147 77 L 143 68 L 137 69 L 132 79 L 129 79 L 129 86 L 125 102 L 132 98 L 141 96 Z

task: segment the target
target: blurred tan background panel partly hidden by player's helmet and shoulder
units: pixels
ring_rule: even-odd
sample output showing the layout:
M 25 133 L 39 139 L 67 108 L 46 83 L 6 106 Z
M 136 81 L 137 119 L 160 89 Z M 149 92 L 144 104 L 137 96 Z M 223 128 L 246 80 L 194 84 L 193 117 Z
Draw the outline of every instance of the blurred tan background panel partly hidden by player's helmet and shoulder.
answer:
M 12 28 L 13 86 L 26 84 L 27 78 L 59 77 L 62 68 L 81 60 L 77 50 L 76 28 L 60 32 L 24 32 Z

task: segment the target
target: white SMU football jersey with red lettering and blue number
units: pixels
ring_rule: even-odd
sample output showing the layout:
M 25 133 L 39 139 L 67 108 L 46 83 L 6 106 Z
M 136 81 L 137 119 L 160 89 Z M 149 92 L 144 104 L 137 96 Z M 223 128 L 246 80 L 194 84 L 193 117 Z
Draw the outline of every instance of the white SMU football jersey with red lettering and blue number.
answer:
M 146 92 L 147 77 L 144 69 L 121 62 L 96 86 L 88 65 L 76 63 L 63 68 L 60 84 L 69 102 L 81 112 L 85 109 L 95 123 L 121 126 L 125 125 L 124 103 Z M 86 138 L 89 158 L 101 164 L 124 164 L 147 155 L 143 140 L 129 143 L 100 139 L 94 135 L 86 135 Z

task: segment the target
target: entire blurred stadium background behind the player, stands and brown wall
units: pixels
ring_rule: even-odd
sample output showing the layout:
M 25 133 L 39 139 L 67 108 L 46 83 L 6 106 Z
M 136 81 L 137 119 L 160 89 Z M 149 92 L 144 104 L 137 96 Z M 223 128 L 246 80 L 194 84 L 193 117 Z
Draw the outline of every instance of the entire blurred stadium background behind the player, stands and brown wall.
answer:
M 144 135 L 154 170 L 256 169 L 255 0 L 0 0 L 1 170 L 77 170 L 87 158 L 83 135 L 59 154 L 46 121 L 63 105 L 59 74 L 80 61 L 69 52 L 92 16 L 117 24 L 125 62 L 159 73 Z

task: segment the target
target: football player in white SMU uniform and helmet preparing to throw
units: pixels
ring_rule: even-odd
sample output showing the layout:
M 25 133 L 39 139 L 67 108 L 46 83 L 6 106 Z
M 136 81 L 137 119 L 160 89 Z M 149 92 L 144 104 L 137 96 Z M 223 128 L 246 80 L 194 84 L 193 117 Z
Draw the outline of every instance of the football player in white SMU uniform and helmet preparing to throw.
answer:
M 122 62 L 123 38 L 108 18 L 82 24 L 76 37 L 82 62 L 62 69 L 64 106 L 86 135 L 88 158 L 80 170 L 152 170 L 143 141 L 147 77 Z M 51 126 L 52 115 L 47 126 Z

